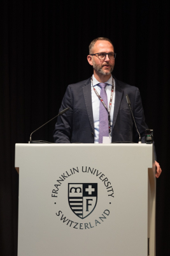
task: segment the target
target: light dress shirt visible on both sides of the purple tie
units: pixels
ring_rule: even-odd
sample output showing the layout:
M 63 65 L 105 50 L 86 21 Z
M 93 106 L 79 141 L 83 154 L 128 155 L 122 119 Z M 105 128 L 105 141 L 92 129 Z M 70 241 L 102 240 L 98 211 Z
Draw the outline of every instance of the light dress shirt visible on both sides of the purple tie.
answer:
M 99 81 L 92 76 L 93 79 L 93 85 L 94 88 L 97 90 L 97 92 L 100 94 L 101 88 L 99 86 Z M 111 86 L 112 86 L 112 79 L 111 76 L 106 83 L 108 84 L 106 86 L 106 93 L 108 96 L 108 109 L 109 109 L 109 103 L 110 103 L 110 96 L 111 96 Z M 93 118 L 94 118 L 94 143 L 99 143 L 99 109 L 100 109 L 100 100 L 96 95 L 96 92 L 94 92 L 93 86 L 91 84 L 91 93 L 92 93 L 92 109 L 93 109 Z M 114 113 L 114 107 L 115 107 L 115 79 L 114 79 L 114 91 L 113 91 L 113 100 L 111 104 L 111 110 L 110 110 L 110 122 L 111 122 L 111 128 L 113 124 L 113 113 Z

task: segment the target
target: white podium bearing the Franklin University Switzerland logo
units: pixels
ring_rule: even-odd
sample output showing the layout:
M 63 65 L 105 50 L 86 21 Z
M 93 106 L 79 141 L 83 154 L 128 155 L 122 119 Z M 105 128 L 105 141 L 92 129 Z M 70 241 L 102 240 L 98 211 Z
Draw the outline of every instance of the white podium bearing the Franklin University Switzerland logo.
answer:
M 146 144 L 16 144 L 18 256 L 155 255 Z

